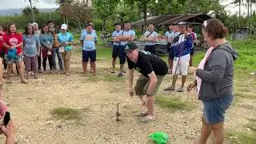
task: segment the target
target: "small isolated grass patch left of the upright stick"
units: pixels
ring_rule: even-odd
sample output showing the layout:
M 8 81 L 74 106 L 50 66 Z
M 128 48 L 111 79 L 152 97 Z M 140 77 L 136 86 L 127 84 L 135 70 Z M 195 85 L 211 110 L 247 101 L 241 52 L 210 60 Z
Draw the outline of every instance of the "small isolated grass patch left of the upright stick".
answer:
M 79 119 L 80 111 L 66 107 L 58 107 L 51 111 L 51 114 L 57 118 L 63 118 L 66 120 Z

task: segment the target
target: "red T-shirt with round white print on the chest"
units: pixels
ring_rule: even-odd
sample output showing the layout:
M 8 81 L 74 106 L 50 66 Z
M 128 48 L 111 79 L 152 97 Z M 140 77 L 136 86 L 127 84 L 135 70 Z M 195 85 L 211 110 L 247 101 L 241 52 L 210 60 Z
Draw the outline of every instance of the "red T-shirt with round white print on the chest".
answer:
M 6 44 L 8 46 L 14 46 L 14 45 L 18 45 L 22 42 L 22 34 L 19 33 L 15 33 L 15 34 L 4 34 L 3 35 L 3 40 L 2 42 L 6 42 Z M 17 54 L 20 55 L 22 54 L 22 47 L 16 47 L 17 49 Z M 7 49 L 6 49 L 6 54 L 7 54 Z

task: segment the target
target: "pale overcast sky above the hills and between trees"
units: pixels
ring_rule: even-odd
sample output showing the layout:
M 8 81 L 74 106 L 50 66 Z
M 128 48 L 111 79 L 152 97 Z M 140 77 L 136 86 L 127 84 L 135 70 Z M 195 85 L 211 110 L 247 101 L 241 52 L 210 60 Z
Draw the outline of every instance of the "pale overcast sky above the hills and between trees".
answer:
M 30 3 L 28 0 L 27 2 L 24 2 L 25 0 L 0 0 L 0 10 L 3 9 L 16 9 L 16 8 L 24 8 L 26 6 L 30 6 Z M 33 0 L 32 0 L 33 1 Z M 223 5 L 227 5 L 233 0 L 222 0 Z M 38 0 L 38 2 L 34 2 L 33 6 L 36 6 L 39 9 L 42 8 L 57 8 L 58 6 L 55 3 L 55 0 Z M 226 8 L 228 10 L 229 14 L 236 14 L 238 13 L 238 6 L 228 6 Z M 253 10 L 256 10 L 256 6 L 253 6 Z M 242 14 L 246 14 L 246 6 L 242 7 Z

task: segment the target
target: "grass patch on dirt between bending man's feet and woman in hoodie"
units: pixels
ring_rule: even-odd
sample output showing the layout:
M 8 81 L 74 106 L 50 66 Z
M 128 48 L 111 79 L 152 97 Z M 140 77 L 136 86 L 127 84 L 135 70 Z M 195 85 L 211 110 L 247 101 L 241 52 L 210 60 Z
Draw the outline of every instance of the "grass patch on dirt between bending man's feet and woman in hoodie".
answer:
M 179 98 L 155 96 L 154 103 L 162 107 L 170 108 L 172 110 L 192 110 L 193 109 L 192 103 L 188 102 L 188 100 L 183 102 Z

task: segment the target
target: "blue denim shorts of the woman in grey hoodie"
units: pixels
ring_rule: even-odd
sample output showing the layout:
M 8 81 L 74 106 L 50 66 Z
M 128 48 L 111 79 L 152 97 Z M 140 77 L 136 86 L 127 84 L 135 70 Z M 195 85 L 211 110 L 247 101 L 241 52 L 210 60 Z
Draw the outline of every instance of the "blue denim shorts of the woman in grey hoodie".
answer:
M 224 114 L 233 102 L 234 96 L 214 99 L 212 101 L 203 101 L 203 114 L 206 117 L 206 123 L 213 125 L 218 122 L 224 122 Z

